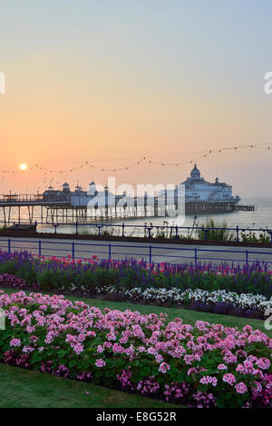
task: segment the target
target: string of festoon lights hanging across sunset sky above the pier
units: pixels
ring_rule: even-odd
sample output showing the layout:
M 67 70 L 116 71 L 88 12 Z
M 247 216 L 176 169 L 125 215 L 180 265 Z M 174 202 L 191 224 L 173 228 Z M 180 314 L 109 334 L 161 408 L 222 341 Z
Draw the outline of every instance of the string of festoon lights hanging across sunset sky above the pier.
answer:
M 154 164 L 154 165 L 160 165 L 161 167 L 180 167 L 182 165 L 186 165 L 186 164 L 191 164 L 191 163 L 196 163 L 199 162 L 199 160 L 203 160 L 206 158 L 209 158 L 209 156 L 213 155 L 213 154 L 222 154 L 224 152 L 227 151 L 233 151 L 233 152 L 238 152 L 241 149 L 263 149 L 263 150 L 267 150 L 267 151 L 272 151 L 272 144 L 268 144 L 268 143 L 263 143 L 263 144 L 247 144 L 247 145 L 238 145 L 238 146 L 231 146 L 231 147 L 224 147 L 224 148 L 218 148 L 218 149 L 210 149 L 208 151 L 201 151 L 198 153 L 201 153 L 199 156 L 195 157 L 195 158 L 191 158 L 189 160 L 186 161 L 182 161 L 182 162 L 174 162 L 174 163 L 167 163 L 167 162 L 161 162 L 158 160 L 154 160 L 152 158 L 154 157 L 159 157 L 162 156 L 162 154 L 156 154 L 156 155 L 146 155 L 146 156 L 140 156 L 138 158 L 136 158 L 136 161 L 134 163 L 129 163 L 127 165 L 123 165 L 121 167 L 113 167 L 113 168 L 109 168 L 109 167 L 102 167 L 99 166 L 97 164 L 94 164 L 92 162 L 89 161 L 85 161 L 75 167 L 71 167 L 71 168 L 65 168 L 65 169 L 53 169 L 53 168 L 47 168 L 44 167 L 42 165 L 42 163 L 35 163 L 34 165 L 30 165 L 29 167 L 25 167 L 25 169 L 22 169 L 22 173 L 26 172 L 26 171 L 30 171 L 30 172 L 36 172 L 36 171 L 41 171 L 44 172 L 44 176 L 47 176 L 47 174 L 56 174 L 59 173 L 61 174 L 66 174 L 66 173 L 73 173 L 76 171 L 79 171 L 81 169 L 93 169 L 93 170 L 97 170 L 97 171 L 101 171 L 101 172 L 111 172 L 111 173 L 118 173 L 118 172 L 126 172 L 131 170 L 131 168 L 136 167 L 141 165 L 142 163 L 149 163 L 149 164 Z M 181 155 L 181 154 L 189 154 L 189 153 L 180 153 L 180 154 L 175 154 L 175 155 Z M 195 152 L 196 154 L 196 152 Z M 165 157 L 166 155 L 173 155 L 173 154 L 163 154 L 163 156 Z M 111 161 L 114 161 L 114 159 L 112 159 Z M 24 164 L 23 164 L 24 165 Z M 12 174 L 14 175 L 14 177 L 17 177 L 19 175 L 18 171 L 13 169 L 13 170 L 7 170 L 7 169 L 2 169 L 1 170 L 1 165 L 0 165 L 0 173 L 2 173 L 2 180 L 5 179 L 5 174 Z M 46 180 L 49 180 L 46 178 Z M 54 181 L 54 179 L 50 179 L 50 181 Z

